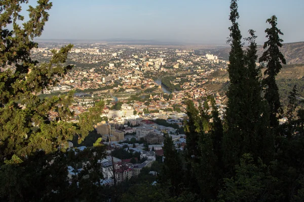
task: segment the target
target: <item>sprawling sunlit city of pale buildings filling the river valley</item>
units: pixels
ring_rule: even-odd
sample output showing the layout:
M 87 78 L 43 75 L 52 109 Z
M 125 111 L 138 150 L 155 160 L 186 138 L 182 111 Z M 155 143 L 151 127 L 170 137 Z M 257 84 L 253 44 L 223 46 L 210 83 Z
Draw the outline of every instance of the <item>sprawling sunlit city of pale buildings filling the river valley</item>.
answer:
M 32 49 L 32 58 L 46 62 L 53 55 L 51 50 L 58 52 L 63 45 L 40 43 L 41 47 Z M 225 94 L 208 89 L 204 84 L 228 82 L 229 78 L 218 79 L 212 74 L 226 72 L 229 61 L 209 52 L 206 47 L 176 49 L 80 43 L 68 55 L 74 68 L 56 86 L 44 89 L 41 96 L 75 90 L 74 102 L 69 107 L 74 115 L 70 121 L 75 123 L 95 102 L 104 100 L 103 121 L 94 127 L 107 145 L 107 153 L 111 154 L 112 149 L 129 148 L 134 154 L 140 154 L 140 159 L 146 159 L 141 164 L 138 159 L 131 164 L 130 159 L 114 157 L 118 181 L 122 182 L 137 176 L 141 168 L 151 167 L 156 155 L 163 156 L 164 132 L 172 137 L 176 149 L 183 149 L 186 142 L 183 123 L 187 119 L 185 98 L 192 99 L 199 107 L 203 97 L 214 96 L 219 117 L 223 119 Z M 50 113 L 49 119 L 54 120 L 56 116 Z M 128 143 L 132 138 L 136 139 L 134 142 L 146 142 L 147 146 L 144 143 L 133 146 Z M 72 142 L 69 147 L 73 148 Z M 110 159 L 102 161 L 102 174 L 106 176 L 102 183 L 113 184 L 112 166 Z M 69 173 L 69 176 L 74 173 L 71 167 Z

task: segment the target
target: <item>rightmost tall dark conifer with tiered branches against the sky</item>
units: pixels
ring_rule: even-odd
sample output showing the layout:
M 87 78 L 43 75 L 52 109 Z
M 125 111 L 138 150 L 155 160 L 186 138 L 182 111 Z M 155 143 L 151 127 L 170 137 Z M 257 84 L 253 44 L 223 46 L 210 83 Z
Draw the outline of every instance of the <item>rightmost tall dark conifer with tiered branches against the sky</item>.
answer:
M 275 76 L 279 74 L 282 64 L 286 64 L 286 60 L 283 54 L 280 52 L 279 47 L 282 47 L 283 40 L 279 35 L 283 35 L 280 29 L 277 28 L 277 17 L 272 16 L 267 21 L 271 25 L 271 28 L 267 28 L 265 33 L 268 40 L 264 43 L 263 55 L 259 58 L 259 62 L 266 62 L 267 69 L 264 74 L 268 75 L 262 81 L 264 86 L 264 97 L 268 102 L 270 108 L 270 126 L 275 128 L 279 125 L 278 115 L 282 114 L 282 108 L 279 97 L 279 90 L 276 83 Z

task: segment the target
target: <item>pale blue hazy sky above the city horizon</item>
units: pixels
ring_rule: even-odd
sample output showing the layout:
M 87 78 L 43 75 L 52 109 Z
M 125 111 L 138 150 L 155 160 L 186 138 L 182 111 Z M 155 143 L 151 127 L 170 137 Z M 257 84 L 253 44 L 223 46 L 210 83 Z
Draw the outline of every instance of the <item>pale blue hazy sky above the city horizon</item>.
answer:
M 34 0 L 29 1 L 34 5 Z M 144 39 L 225 44 L 229 36 L 229 0 L 52 0 L 40 39 Z M 304 41 L 304 0 L 240 0 L 243 37 L 256 30 L 265 41 L 265 21 L 278 17 L 284 42 Z M 24 16 L 26 6 L 22 11 Z M 27 19 L 27 18 L 26 18 Z

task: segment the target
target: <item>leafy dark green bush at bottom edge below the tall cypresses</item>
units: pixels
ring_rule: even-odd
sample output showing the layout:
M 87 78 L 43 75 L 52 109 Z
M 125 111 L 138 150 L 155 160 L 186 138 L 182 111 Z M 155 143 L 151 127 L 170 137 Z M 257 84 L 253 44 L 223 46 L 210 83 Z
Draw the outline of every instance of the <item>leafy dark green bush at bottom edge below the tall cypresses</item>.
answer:
M 255 164 L 251 155 L 244 154 L 236 166 L 236 176 L 224 179 L 219 201 L 277 201 L 280 195 L 273 188 L 278 179 L 270 171 L 261 159 Z

